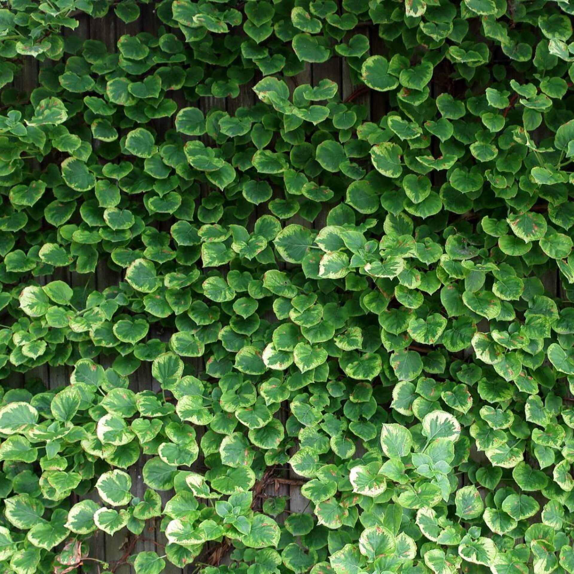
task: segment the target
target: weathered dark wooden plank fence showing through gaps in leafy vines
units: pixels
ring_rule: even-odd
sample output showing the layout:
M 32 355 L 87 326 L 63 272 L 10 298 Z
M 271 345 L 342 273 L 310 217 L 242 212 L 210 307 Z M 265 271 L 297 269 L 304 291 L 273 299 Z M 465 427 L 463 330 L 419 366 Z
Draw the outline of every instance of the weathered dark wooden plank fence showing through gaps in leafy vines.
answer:
M 92 19 L 87 15 L 81 15 L 79 20 L 79 27 L 73 31 L 68 30 L 64 35 L 100 40 L 106 44 L 108 51 L 110 52 L 117 51 L 117 40 L 123 36 L 123 34 L 134 35 L 139 32 L 148 32 L 157 36 L 158 28 L 162 24 L 155 14 L 153 2 L 150 5 L 141 5 L 141 16 L 137 21 L 131 22 L 130 24 L 125 24 L 123 21 L 116 18 L 113 11 L 110 11 L 110 13 L 104 18 Z M 369 37 L 371 55 L 385 53 L 382 40 L 378 37 L 376 27 L 359 28 L 357 32 Z M 352 35 L 352 33 L 350 35 Z M 348 41 L 348 38 L 346 38 L 345 41 Z M 52 65 L 52 63 L 49 60 L 46 61 L 46 63 L 38 63 L 37 60 L 34 60 L 31 57 L 26 58 L 24 61 L 24 69 L 22 69 L 20 75 L 18 75 L 14 80 L 14 87 L 29 94 L 38 86 L 38 72 L 41 67 L 50 65 Z M 339 94 L 343 100 L 352 99 L 355 103 L 366 106 L 368 110 L 368 119 L 377 121 L 385 114 L 386 96 L 381 93 L 373 92 L 372 90 L 360 90 L 358 89 L 358 86 L 354 86 L 351 82 L 347 64 L 344 63 L 344 59 L 336 55 L 324 64 L 308 64 L 304 72 L 297 76 L 293 76 L 290 79 L 286 79 L 286 81 L 288 83 L 292 83 L 292 87 L 305 83 L 315 86 L 324 78 L 328 78 L 339 84 Z M 183 94 L 181 93 L 170 95 L 170 97 L 176 100 L 179 108 L 199 105 L 204 114 L 214 107 L 233 114 L 237 108 L 253 106 L 258 101 L 257 96 L 251 88 L 259 79 L 261 79 L 261 74 L 257 73 L 254 80 L 250 83 L 243 84 L 238 98 L 235 99 L 217 99 L 207 97 L 201 98 L 199 104 L 197 102 L 194 104 L 186 102 Z M 444 91 L 444 86 L 438 86 L 436 83 L 432 84 L 432 96 L 436 97 L 436 95 L 441 91 Z M 150 123 L 161 135 L 162 133 L 165 133 L 166 130 L 174 127 L 174 115 L 171 118 L 162 118 Z M 259 216 L 263 213 L 265 213 L 265 211 L 262 211 L 261 207 L 259 207 L 257 215 Z M 325 216 L 326 212 L 321 212 L 321 214 L 319 214 L 315 219 L 315 222 L 313 222 L 312 227 L 317 229 L 324 227 Z M 306 226 L 310 225 L 309 222 L 299 218 L 298 216 L 295 216 L 292 222 Z M 162 231 L 169 231 L 169 223 L 160 223 L 159 226 Z M 67 270 L 57 270 L 57 275 L 55 274 L 53 277 L 44 277 L 42 278 L 42 282 L 48 282 L 54 279 L 65 280 L 72 286 L 84 287 L 87 283 L 88 289 L 92 288 L 101 291 L 108 286 L 117 285 L 118 282 L 122 280 L 122 277 L 119 273 L 110 270 L 105 262 L 100 261 L 96 273 L 94 274 L 79 275 L 76 273 L 68 273 Z M 560 295 L 560 287 L 556 274 L 543 278 L 543 281 L 549 294 L 556 296 Z M 149 338 L 159 338 L 166 341 L 169 340 L 169 337 L 170 333 L 157 330 L 154 332 L 153 328 L 150 329 Z M 104 366 L 104 368 L 109 367 L 112 360 L 113 356 L 100 356 L 99 358 L 99 362 Z M 193 364 L 195 364 L 197 372 L 203 371 L 203 360 L 196 359 Z M 12 374 L 7 380 L 7 384 L 9 386 L 19 387 L 23 386 L 24 381 L 26 380 L 40 378 L 49 389 L 56 389 L 68 384 L 70 373 L 71 367 L 49 367 L 48 365 L 45 365 L 37 367 L 24 375 L 17 373 Z M 141 367 L 139 367 L 133 375 L 130 375 L 130 389 L 134 392 L 143 390 L 159 390 L 157 381 L 152 379 L 151 363 L 142 363 Z M 285 412 L 282 413 L 282 417 L 283 420 L 286 419 Z M 198 441 L 201 438 L 202 430 L 203 429 L 201 428 L 197 429 Z M 132 494 L 136 497 L 143 497 L 146 490 L 146 486 L 142 480 L 142 467 L 148 458 L 149 457 L 147 456 L 142 456 L 138 463 L 129 469 L 129 474 L 131 475 L 133 482 Z M 201 466 L 201 461 L 195 463 L 194 468 L 200 472 L 207 470 Z M 265 488 L 265 492 L 269 495 L 289 497 L 286 513 L 278 517 L 278 521 L 280 522 L 289 512 L 309 511 L 309 501 L 302 497 L 300 493 L 300 478 L 301 477 L 294 474 L 293 471 L 285 470 L 277 482 L 275 480 L 270 480 L 269 484 L 267 484 Z M 165 503 L 172 496 L 173 492 L 162 493 L 163 502 Z M 127 552 L 134 554 L 144 550 L 156 550 L 158 554 L 163 554 L 164 552 L 162 552 L 161 546 L 166 544 L 166 539 L 164 534 L 160 532 L 159 520 L 160 519 L 156 519 L 155 525 L 152 523 L 151 528 L 146 528 L 144 533 L 142 533 L 137 540 L 134 539 L 133 535 L 127 533 L 127 530 L 125 529 L 121 530 L 113 537 L 99 532 L 92 537 L 90 556 L 113 564 L 118 560 L 125 558 Z M 148 524 L 150 522 L 152 521 L 148 521 Z M 154 526 L 156 528 L 154 528 Z M 208 549 L 207 553 L 209 552 L 210 550 Z M 205 553 L 203 556 L 205 557 Z M 128 572 L 129 568 L 129 565 L 124 565 L 121 569 L 118 569 L 118 572 L 119 574 L 122 572 Z M 188 572 L 191 573 L 193 569 L 195 569 L 193 566 L 180 569 L 167 563 L 165 572 L 166 574 L 187 574 Z M 94 572 L 94 568 L 90 567 L 90 571 Z

